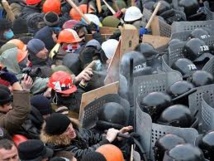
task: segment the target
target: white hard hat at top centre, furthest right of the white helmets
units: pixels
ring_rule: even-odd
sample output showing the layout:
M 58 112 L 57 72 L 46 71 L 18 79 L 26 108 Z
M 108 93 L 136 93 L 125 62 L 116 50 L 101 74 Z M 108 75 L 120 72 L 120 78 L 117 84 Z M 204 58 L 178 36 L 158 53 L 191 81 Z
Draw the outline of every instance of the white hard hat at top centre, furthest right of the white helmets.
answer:
M 124 16 L 125 22 L 132 22 L 135 20 L 138 20 L 143 17 L 143 14 L 141 13 L 140 9 L 136 6 L 131 6 L 127 8 Z

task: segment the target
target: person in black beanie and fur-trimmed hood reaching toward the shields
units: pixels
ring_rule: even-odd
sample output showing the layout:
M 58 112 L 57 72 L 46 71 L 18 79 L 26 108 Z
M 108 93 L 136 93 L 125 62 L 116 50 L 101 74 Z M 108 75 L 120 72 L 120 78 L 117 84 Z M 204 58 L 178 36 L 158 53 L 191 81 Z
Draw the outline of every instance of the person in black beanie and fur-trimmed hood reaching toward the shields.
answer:
M 112 143 L 118 133 L 125 133 L 132 127 L 121 130 L 108 129 L 106 136 L 90 130 L 78 128 L 78 125 L 63 114 L 52 114 L 46 119 L 41 131 L 41 140 L 55 152 L 66 150 L 74 153 L 80 160 L 83 155 L 95 151 L 99 146 Z

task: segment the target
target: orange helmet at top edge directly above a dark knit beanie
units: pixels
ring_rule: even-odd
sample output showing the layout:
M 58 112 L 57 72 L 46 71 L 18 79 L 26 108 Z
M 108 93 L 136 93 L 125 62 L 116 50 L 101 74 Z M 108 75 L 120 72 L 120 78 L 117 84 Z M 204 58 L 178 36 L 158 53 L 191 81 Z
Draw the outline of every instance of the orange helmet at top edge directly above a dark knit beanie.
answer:
M 44 13 L 55 12 L 58 15 L 61 14 L 60 0 L 46 0 L 42 6 L 42 11 Z

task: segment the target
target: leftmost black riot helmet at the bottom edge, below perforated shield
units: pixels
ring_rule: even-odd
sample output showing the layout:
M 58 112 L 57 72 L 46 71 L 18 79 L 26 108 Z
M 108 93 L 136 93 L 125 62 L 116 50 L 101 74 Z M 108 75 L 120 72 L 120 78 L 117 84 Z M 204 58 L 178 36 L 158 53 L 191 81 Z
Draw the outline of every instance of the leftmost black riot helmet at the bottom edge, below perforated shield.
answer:
M 164 153 L 166 151 L 171 150 L 176 145 L 185 144 L 185 140 L 174 134 L 165 134 L 160 137 L 154 146 L 155 160 L 162 161 L 164 157 Z

